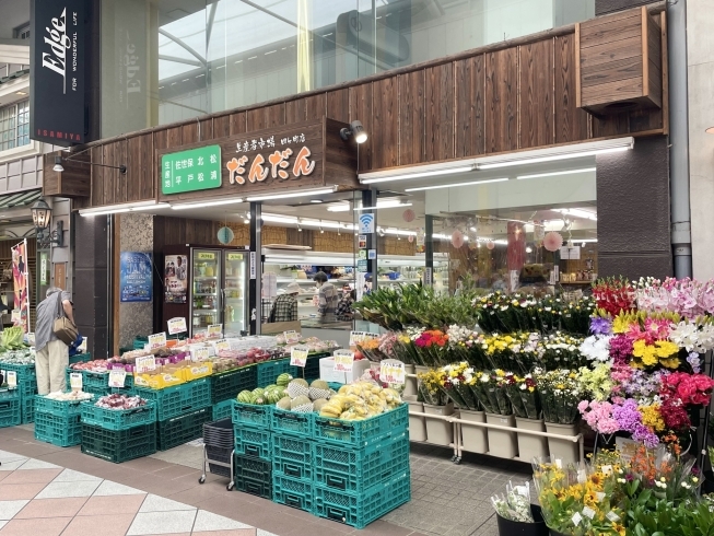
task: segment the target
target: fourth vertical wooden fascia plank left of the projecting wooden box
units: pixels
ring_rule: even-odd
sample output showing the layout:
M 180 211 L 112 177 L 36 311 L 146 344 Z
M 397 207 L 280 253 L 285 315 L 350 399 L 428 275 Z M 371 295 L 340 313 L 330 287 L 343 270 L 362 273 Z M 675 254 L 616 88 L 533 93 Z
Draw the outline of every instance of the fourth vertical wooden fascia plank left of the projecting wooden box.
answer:
M 485 152 L 483 97 L 485 69 L 483 56 L 454 63 L 456 79 L 456 158 Z

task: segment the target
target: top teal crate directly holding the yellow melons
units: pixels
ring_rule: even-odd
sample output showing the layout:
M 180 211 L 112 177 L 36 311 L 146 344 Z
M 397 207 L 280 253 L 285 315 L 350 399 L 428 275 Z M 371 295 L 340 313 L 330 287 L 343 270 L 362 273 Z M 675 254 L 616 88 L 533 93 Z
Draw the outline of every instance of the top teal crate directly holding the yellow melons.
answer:
M 313 436 L 318 442 L 336 443 L 350 448 L 363 448 L 409 428 L 407 404 L 362 421 L 347 421 L 331 417 L 314 416 Z

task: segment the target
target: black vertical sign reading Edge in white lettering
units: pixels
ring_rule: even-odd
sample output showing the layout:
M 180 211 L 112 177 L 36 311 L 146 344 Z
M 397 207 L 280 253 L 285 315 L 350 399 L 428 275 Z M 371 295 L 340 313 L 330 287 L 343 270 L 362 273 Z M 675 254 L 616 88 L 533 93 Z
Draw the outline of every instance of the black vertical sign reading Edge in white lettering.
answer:
M 30 138 L 69 147 L 85 139 L 85 0 L 32 0 Z

